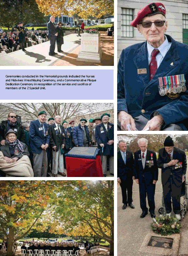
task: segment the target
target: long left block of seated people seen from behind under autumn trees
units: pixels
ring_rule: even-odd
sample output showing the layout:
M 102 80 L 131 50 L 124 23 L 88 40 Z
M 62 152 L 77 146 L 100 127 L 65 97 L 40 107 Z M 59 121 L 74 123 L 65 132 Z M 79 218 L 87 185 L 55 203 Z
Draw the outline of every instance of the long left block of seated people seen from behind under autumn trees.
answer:
M 73 254 L 76 253 L 76 251 L 80 251 L 79 245 L 78 243 L 67 243 L 67 242 L 62 242 L 62 243 L 54 243 L 54 244 L 50 244 L 50 243 L 46 243 L 46 242 L 35 242 L 35 243 L 31 243 L 29 244 L 29 246 L 25 246 L 26 244 L 23 243 L 23 245 L 21 246 L 21 250 L 24 249 L 26 252 L 28 252 L 28 250 L 32 250 L 32 252 L 34 253 L 34 250 L 43 250 L 45 253 L 45 250 L 50 250 L 50 253 L 52 250 L 60 250 L 60 251 L 73 251 Z M 72 255 L 73 255 L 72 254 Z

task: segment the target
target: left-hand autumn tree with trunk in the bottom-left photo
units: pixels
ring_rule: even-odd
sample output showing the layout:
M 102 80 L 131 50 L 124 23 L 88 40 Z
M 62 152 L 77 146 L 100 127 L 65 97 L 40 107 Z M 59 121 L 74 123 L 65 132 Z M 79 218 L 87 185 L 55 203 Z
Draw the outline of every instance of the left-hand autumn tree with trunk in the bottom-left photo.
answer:
M 33 226 L 45 228 L 40 220 L 52 189 L 44 181 L 0 181 L 0 232 L 7 237 L 7 256 L 14 255 L 14 243 Z

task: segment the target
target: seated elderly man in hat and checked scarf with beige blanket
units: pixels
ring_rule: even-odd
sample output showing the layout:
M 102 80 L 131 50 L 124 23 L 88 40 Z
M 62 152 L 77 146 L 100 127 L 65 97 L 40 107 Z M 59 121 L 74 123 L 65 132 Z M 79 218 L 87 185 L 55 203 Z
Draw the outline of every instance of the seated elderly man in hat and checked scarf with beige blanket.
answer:
M 9 129 L 5 145 L 0 147 L 0 170 L 7 176 L 33 177 L 27 145 L 17 139 L 16 132 Z

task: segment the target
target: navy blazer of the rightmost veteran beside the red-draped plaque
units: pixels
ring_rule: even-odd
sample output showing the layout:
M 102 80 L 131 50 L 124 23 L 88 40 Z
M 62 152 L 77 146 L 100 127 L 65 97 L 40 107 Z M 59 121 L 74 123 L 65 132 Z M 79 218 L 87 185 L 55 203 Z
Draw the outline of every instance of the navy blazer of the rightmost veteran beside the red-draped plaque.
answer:
M 105 127 L 103 125 L 103 123 L 101 123 L 100 125 L 97 125 L 95 128 L 95 140 L 98 144 L 98 148 L 100 150 L 102 150 L 102 148 L 100 147 L 100 144 L 104 144 L 104 148 L 103 148 L 103 155 L 107 156 L 113 156 L 114 155 L 114 143 L 112 145 L 108 145 L 107 142 L 109 140 L 114 140 L 114 124 L 111 124 L 108 122 L 107 125 L 107 134 L 105 132 Z

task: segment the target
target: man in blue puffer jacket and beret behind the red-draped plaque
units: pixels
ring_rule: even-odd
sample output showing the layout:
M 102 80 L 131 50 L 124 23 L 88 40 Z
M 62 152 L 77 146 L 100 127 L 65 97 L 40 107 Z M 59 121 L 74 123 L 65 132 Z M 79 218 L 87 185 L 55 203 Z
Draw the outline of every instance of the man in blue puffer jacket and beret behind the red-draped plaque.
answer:
M 80 124 L 74 127 L 72 137 L 76 147 L 89 147 L 91 144 L 89 138 L 89 130 L 86 126 L 87 120 L 85 118 L 80 119 Z

